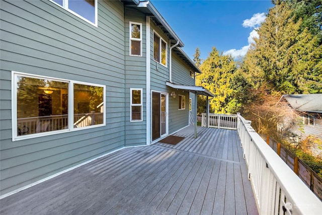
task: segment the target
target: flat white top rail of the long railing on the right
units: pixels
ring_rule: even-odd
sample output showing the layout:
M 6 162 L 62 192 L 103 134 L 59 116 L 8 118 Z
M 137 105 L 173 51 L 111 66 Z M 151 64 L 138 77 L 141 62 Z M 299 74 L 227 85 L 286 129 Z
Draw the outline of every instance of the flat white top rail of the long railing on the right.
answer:
M 237 114 L 238 122 L 246 127 L 251 141 L 261 153 L 268 168 L 276 177 L 284 192 L 295 203 L 293 208 L 302 214 L 318 214 L 321 212 L 322 202 L 311 192 L 301 179 L 288 165 L 266 144 L 263 138 L 253 129 L 251 121 Z

